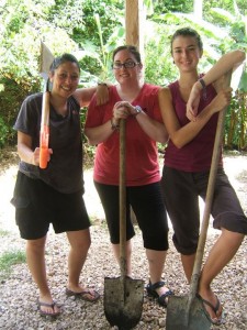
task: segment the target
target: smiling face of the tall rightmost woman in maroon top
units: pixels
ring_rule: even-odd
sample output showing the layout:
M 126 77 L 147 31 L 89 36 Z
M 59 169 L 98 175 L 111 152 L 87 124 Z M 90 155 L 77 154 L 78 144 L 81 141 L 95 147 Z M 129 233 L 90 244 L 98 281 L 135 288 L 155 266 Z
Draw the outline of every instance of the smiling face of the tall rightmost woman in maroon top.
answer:
M 172 41 L 171 53 L 180 72 L 195 70 L 202 56 L 197 38 L 190 35 L 178 35 Z

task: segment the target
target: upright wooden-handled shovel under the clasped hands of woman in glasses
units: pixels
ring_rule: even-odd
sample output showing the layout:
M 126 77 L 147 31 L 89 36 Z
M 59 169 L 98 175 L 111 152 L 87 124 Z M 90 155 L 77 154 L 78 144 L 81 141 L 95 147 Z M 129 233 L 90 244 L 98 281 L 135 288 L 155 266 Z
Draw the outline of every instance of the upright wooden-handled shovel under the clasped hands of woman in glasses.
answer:
M 143 311 L 144 282 L 126 276 L 125 120 L 120 122 L 120 271 L 117 278 L 104 278 L 104 314 L 120 330 L 134 328 Z

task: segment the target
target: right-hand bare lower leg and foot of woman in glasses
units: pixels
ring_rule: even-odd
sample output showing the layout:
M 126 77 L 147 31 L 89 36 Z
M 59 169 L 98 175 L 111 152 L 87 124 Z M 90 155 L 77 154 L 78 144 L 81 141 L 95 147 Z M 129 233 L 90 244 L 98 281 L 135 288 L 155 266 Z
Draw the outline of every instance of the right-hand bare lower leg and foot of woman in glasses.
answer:
M 161 280 L 164 265 L 167 256 L 167 251 L 156 251 L 146 249 L 146 255 L 149 266 L 150 283 L 155 284 Z M 169 289 L 166 286 L 157 288 L 156 292 L 159 296 L 167 293 Z

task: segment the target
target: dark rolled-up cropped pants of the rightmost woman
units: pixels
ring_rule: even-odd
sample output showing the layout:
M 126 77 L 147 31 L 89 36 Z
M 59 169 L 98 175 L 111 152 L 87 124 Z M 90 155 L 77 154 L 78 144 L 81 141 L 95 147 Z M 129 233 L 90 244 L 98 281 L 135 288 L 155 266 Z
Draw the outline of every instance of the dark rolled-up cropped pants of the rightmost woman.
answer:
M 199 196 L 205 200 L 209 172 L 188 173 L 165 166 L 161 186 L 173 227 L 173 243 L 182 254 L 197 251 L 200 231 Z M 215 229 L 247 234 L 247 218 L 223 168 L 218 168 L 211 215 Z

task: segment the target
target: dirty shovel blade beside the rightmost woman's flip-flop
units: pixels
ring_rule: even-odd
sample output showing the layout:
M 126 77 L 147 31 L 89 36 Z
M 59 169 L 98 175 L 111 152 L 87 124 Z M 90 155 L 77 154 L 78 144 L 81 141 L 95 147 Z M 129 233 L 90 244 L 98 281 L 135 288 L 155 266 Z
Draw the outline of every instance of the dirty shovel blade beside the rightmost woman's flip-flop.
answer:
M 202 301 L 194 297 L 188 308 L 188 297 L 169 297 L 167 305 L 166 330 L 209 330 L 207 319 Z

